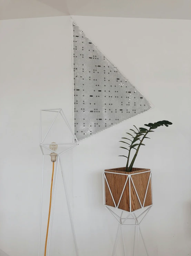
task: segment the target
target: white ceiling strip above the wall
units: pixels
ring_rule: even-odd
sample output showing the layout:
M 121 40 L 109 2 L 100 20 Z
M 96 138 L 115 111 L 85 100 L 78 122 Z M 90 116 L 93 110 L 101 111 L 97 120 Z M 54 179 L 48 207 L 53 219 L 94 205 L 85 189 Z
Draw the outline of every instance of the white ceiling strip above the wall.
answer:
M 0 19 L 65 15 L 191 19 L 191 0 L 0 0 Z

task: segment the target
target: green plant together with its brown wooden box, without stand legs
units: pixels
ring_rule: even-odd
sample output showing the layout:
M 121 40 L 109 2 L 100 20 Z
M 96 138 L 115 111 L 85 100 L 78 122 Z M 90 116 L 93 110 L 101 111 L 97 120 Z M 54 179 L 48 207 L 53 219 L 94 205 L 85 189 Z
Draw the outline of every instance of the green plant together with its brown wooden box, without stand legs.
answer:
M 169 126 L 172 123 L 166 120 L 157 123 L 145 124 L 148 129 L 137 127 L 136 130 L 130 129 L 132 133 L 128 133 L 131 138 L 122 138 L 120 141 L 126 147 L 120 147 L 127 150 L 128 156 L 120 156 L 127 158 L 126 167 L 106 169 L 104 171 L 105 179 L 105 205 L 113 206 L 128 212 L 133 212 L 152 205 L 152 186 L 151 186 L 151 170 L 133 167 L 137 158 L 139 149 L 144 139 L 150 139 L 149 133 L 154 132 L 159 126 Z M 132 135 L 133 134 L 133 135 Z M 128 148 L 127 148 L 128 147 Z M 130 154 L 135 150 L 135 154 L 130 162 Z

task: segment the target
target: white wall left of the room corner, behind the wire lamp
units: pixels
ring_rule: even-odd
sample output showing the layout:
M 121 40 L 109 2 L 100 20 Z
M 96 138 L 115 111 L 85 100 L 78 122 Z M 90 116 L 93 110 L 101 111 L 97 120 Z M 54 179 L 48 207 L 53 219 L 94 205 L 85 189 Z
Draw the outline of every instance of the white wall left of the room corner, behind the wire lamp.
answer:
M 40 109 L 62 107 L 70 122 L 72 116 L 70 17 L 6 20 L 0 29 L 0 248 L 10 256 L 34 256 L 38 254 L 41 194 Z M 69 192 L 71 156 L 68 152 L 63 159 Z M 52 171 L 50 160 L 46 161 L 43 244 Z M 55 207 L 51 253 L 72 255 L 60 173 Z

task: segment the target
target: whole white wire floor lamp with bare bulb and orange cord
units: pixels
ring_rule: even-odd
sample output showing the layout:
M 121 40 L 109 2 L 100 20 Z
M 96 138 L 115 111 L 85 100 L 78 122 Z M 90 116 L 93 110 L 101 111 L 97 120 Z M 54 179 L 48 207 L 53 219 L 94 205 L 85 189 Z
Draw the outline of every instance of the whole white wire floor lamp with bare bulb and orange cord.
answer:
M 47 133 L 45 136 L 42 138 L 42 111 L 48 111 L 48 112 L 57 112 L 56 116 L 54 117 Z M 44 143 L 44 140 L 47 138 L 47 135 L 50 132 L 50 129 L 54 122 L 56 121 L 57 117 L 61 115 L 63 118 L 64 122 L 68 126 L 71 135 L 74 138 L 74 142 L 71 143 Z M 57 148 L 59 145 L 70 145 L 68 149 L 63 150 L 62 152 L 58 153 L 56 152 Z M 57 177 L 58 177 L 58 167 L 60 165 L 61 168 L 61 173 L 62 173 L 62 179 L 63 179 L 63 185 L 64 185 L 64 191 L 66 195 L 66 201 L 67 201 L 67 206 L 68 206 L 68 213 L 70 217 L 70 224 L 71 224 L 71 229 L 72 229 L 72 236 L 73 236 L 73 241 L 74 241 L 74 246 L 76 250 L 76 255 L 79 256 L 78 253 L 78 247 L 77 247 L 77 241 L 76 241 L 76 235 L 74 231 L 74 225 L 73 225 L 73 220 L 72 220 L 72 214 L 71 214 L 71 209 L 70 209 L 70 202 L 68 198 L 68 192 L 67 192 L 67 187 L 66 187 L 66 181 L 64 178 L 64 172 L 63 172 L 63 165 L 62 165 L 62 160 L 61 160 L 61 155 L 66 153 L 68 150 L 76 147 L 78 145 L 77 138 L 75 134 L 73 133 L 66 116 L 64 115 L 64 112 L 61 108 L 54 108 L 54 109 L 41 109 L 40 111 L 40 148 L 42 151 L 43 155 L 43 160 L 42 160 L 42 188 L 41 188 L 41 208 L 40 208 L 40 228 L 39 228 L 39 256 L 40 256 L 40 242 L 41 242 L 41 223 L 42 223 L 42 196 L 43 196 L 43 175 L 44 175 L 44 156 L 49 155 L 51 156 L 51 161 L 53 162 L 53 171 L 52 171 L 52 183 L 51 183 L 51 192 L 50 192 L 50 206 L 49 206 L 49 218 L 48 218 L 48 225 L 47 225 L 47 237 L 46 237 L 46 244 L 45 244 L 45 249 L 44 249 L 44 255 L 49 256 L 50 253 L 50 242 L 51 242 L 51 233 L 52 233 L 52 223 L 53 223 L 53 214 L 54 214 L 54 203 L 55 203 L 55 197 L 56 197 L 56 187 L 57 187 Z M 49 147 L 48 147 L 49 146 Z M 44 149 L 47 149 L 51 151 L 50 154 L 45 154 Z M 56 168 L 54 171 L 54 162 L 56 162 Z M 50 218 L 51 216 L 51 218 Z M 50 221 L 50 232 L 49 232 L 49 221 Z M 47 248 L 47 238 L 48 238 L 48 233 L 49 233 L 49 244 Z

